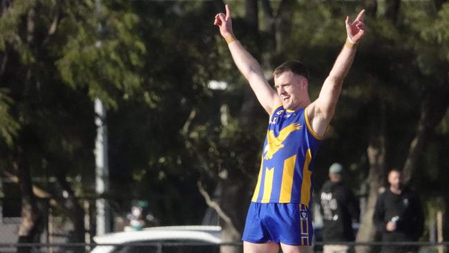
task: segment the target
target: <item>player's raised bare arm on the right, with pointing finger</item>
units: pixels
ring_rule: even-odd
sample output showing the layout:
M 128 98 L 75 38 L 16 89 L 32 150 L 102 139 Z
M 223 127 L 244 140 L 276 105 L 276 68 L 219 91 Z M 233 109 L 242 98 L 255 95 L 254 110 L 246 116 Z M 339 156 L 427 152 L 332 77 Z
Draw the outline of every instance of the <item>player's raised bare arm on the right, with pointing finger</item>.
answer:
M 363 35 L 365 35 L 364 13 L 365 10 L 361 10 L 354 22 L 350 21 L 350 17 L 346 17 L 347 39 L 345 46 L 343 46 L 338 55 L 329 76 L 325 79 L 320 95 L 310 104 L 307 111 L 312 129 L 318 135 L 325 133 L 327 125 L 334 116 L 343 79 L 351 68 L 352 61 L 356 55 L 357 45 L 363 38 Z

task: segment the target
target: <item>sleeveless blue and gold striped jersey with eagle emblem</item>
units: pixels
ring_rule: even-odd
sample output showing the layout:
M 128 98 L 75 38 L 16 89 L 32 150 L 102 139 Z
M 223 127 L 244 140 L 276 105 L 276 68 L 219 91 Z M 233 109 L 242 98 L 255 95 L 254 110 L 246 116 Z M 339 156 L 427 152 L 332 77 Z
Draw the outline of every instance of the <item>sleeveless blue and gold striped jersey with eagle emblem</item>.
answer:
M 278 107 L 271 115 L 252 202 L 300 203 L 309 207 L 314 189 L 314 156 L 321 137 L 309 124 L 307 107 Z

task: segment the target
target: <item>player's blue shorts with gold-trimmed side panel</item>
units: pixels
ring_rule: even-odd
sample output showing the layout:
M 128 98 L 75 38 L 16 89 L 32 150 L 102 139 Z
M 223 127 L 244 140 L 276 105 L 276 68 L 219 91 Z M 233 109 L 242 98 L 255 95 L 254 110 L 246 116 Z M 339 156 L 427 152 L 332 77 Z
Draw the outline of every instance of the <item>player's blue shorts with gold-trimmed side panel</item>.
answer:
M 312 245 L 313 236 L 312 216 L 305 205 L 255 202 L 249 205 L 243 241 Z

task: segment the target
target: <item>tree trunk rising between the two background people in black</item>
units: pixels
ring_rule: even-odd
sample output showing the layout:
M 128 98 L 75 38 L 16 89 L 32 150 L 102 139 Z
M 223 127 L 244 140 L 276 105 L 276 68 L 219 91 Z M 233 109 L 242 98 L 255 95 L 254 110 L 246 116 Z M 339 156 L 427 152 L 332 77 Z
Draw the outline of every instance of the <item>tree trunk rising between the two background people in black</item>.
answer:
M 366 184 L 368 185 L 368 197 L 365 209 L 362 210 L 361 226 L 356 236 L 357 242 L 374 241 L 376 235 L 376 227 L 372 221 L 374 214 L 374 206 L 379 196 L 379 188 L 383 185 L 383 177 L 385 175 L 385 106 L 381 104 L 381 100 L 375 100 L 373 104 L 378 106 L 370 106 L 370 143 L 367 147 L 367 157 L 370 163 L 370 170 Z M 370 253 L 372 248 L 369 246 L 356 247 L 357 253 Z

